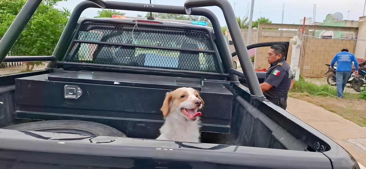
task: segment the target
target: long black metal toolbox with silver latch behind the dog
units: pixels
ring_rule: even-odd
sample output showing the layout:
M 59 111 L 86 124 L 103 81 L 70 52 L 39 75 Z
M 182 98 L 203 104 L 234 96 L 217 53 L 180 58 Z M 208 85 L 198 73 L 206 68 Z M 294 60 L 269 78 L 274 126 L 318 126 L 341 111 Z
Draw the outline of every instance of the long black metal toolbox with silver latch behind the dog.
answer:
M 229 133 L 233 94 L 227 85 L 221 80 L 96 71 L 30 76 L 16 79 L 16 117 L 94 121 L 129 137 L 156 138 L 164 122 L 160 108 L 165 94 L 193 87 L 205 101 L 202 131 Z

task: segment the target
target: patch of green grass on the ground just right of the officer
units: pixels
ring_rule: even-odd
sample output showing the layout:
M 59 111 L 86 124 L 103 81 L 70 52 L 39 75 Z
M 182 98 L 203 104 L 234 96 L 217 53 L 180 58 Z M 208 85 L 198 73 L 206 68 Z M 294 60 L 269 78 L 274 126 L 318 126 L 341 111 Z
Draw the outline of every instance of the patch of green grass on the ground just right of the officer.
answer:
M 336 97 L 337 90 L 329 85 L 317 85 L 305 82 L 300 78 L 296 81 L 290 92 L 309 93 L 310 95 Z

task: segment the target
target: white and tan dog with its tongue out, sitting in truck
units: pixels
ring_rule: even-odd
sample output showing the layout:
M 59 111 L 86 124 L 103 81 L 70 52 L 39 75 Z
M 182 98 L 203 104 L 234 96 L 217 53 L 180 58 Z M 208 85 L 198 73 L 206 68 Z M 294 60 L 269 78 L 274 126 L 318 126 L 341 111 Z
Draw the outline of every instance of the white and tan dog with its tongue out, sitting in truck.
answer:
M 158 140 L 200 142 L 199 116 L 205 104 L 199 93 L 190 87 L 181 87 L 166 94 L 161 111 L 165 122 Z

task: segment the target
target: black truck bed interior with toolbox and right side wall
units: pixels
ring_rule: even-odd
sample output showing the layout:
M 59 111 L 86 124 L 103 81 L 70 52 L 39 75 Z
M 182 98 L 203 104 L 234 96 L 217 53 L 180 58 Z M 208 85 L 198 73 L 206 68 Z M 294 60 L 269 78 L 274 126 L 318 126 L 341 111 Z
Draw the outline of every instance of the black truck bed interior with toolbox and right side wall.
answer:
M 93 121 L 114 127 L 131 138 L 155 139 L 164 123 L 159 109 L 165 93 L 178 87 L 193 87 L 206 102 L 202 111 L 202 142 L 316 151 L 306 139 L 292 135 L 294 131 L 284 129 L 253 106 L 247 93 L 240 96 L 224 80 L 71 71 L 29 76 L 15 82 L 19 119 Z M 65 85 L 80 87 L 82 96 L 64 98 Z M 48 92 L 42 92 L 45 90 Z M 29 100 L 34 93 L 42 95 Z

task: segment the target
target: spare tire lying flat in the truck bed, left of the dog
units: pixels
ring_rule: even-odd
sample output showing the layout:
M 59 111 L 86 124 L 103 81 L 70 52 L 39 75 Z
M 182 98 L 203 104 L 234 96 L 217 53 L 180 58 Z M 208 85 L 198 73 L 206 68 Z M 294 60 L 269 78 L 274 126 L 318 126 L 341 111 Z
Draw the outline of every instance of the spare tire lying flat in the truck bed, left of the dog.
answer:
M 48 120 L 22 123 L 4 127 L 2 129 L 42 131 L 66 134 L 83 134 L 96 136 L 127 137 L 119 130 L 105 124 L 80 120 Z

